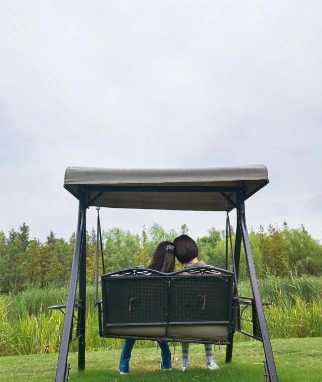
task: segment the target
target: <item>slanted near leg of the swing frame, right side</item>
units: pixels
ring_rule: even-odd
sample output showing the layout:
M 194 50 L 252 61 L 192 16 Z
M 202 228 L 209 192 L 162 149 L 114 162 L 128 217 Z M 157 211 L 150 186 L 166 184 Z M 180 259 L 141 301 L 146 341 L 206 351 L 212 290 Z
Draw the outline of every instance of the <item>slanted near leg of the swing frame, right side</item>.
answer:
M 238 205 L 238 209 L 239 209 L 238 217 L 239 217 L 242 238 L 244 242 L 245 255 L 246 255 L 248 271 L 249 271 L 249 278 L 251 281 L 252 291 L 254 295 L 254 301 L 255 301 L 255 307 L 257 310 L 259 326 L 262 333 L 263 347 L 264 347 L 264 353 L 266 358 L 265 369 L 267 373 L 267 380 L 270 382 L 277 382 L 278 377 L 277 377 L 276 366 L 274 362 L 273 350 L 272 350 L 272 345 L 271 345 L 271 341 L 270 341 L 268 330 L 267 330 L 262 298 L 261 298 L 261 294 L 258 287 L 253 254 L 252 254 L 252 249 L 250 246 L 249 236 L 247 231 L 244 200 L 240 201 Z

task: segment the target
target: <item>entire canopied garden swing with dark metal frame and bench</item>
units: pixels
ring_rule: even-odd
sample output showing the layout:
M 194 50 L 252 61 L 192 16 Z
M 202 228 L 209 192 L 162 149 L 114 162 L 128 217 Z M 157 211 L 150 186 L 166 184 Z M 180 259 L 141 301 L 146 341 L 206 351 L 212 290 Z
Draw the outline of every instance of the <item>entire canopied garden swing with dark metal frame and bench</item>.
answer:
M 239 331 L 263 343 L 266 380 L 278 381 L 263 310 L 267 303 L 261 301 L 258 288 L 244 203 L 267 183 L 264 165 L 190 170 L 68 167 L 64 187 L 79 200 L 79 210 L 67 304 L 49 307 L 65 314 L 56 381 L 68 379 L 68 348 L 73 340 L 78 340 L 78 369 L 85 367 L 85 232 L 90 206 L 97 207 L 95 305 L 100 337 L 226 345 L 226 362 L 230 362 L 234 333 Z M 226 269 L 197 266 L 163 273 L 135 267 L 105 273 L 100 207 L 226 211 Z M 229 219 L 233 209 L 237 211 L 235 248 Z M 238 295 L 242 243 L 252 297 Z M 228 270 L 229 247 L 232 270 Z M 101 300 L 97 298 L 99 252 Z M 75 300 L 77 280 L 79 300 Z M 244 317 L 247 308 L 250 318 Z M 243 329 L 245 321 L 251 321 L 252 333 Z

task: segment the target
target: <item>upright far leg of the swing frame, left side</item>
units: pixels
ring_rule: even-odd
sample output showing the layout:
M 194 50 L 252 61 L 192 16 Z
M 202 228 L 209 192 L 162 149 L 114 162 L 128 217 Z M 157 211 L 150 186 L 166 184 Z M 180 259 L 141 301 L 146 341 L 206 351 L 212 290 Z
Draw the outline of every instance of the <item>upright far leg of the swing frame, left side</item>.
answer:
M 85 209 L 86 211 L 86 209 Z M 81 309 L 79 311 L 79 334 L 78 339 L 78 370 L 85 368 L 85 322 L 86 322 L 86 216 L 84 219 L 83 240 L 81 245 L 80 263 L 79 263 L 79 299 L 81 300 Z

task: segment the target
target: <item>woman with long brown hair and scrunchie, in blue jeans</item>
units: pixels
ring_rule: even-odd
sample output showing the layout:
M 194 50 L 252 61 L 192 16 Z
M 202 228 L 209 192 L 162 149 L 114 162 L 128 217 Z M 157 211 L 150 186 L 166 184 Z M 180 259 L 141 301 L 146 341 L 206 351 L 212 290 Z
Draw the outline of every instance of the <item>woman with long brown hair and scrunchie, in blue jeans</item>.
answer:
M 162 242 L 155 250 L 151 262 L 148 266 L 160 272 L 173 272 L 175 265 L 174 247 L 171 242 Z M 121 374 L 129 374 L 130 372 L 130 358 L 132 348 L 135 344 L 135 339 L 126 338 L 124 341 L 119 370 Z M 159 343 L 161 349 L 161 370 L 171 370 L 171 352 L 169 345 L 166 341 Z

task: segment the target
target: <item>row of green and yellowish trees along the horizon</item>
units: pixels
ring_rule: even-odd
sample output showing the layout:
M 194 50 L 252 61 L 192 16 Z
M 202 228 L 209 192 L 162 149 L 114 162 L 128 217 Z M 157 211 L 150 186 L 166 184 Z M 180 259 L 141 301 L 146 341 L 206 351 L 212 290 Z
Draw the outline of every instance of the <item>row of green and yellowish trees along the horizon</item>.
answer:
M 232 230 L 233 243 L 235 233 Z M 103 231 L 103 252 L 105 270 L 148 266 L 158 243 L 172 241 L 180 234 L 188 234 L 188 227 L 182 224 L 180 232 L 166 231 L 154 223 L 143 226 L 141 234 L 115 227 Z M 286 222 L 282 227 L 269 224 L 260 226 L 257 232 L 250 232 L 250 242 L 257 274 L 267 273 L 286 276 L 290 269 L 298 275 L 322 274 L 322 245 L 305 230 L 290 228 Z M 11 292 L 24 289 L 30 284 L 62 285 L 69 280 L 75 234 L 69 240 L 56 238 L 50 231 L 45 242 L 30 239 L 29 226 L 23 223 L 18 230 L 12 228 L 8 235 L 0 231 L 0 291 Z M 197 238 L 199 259 L 206 264 L 226 267 L 226 232 L 211 228 L 206 236 Z M 86 262 L 88 282 L 95 280 L 96 232 L 86 232 Z M 232 269 L 231 253 L 228 252 L 229 269 Z M 177 264 L 177 268 L 180 268 Z M 101 264 L 100 264 L 101 270 Z M 242 249 L 240 277 L 247 276 L 245 256 Z

